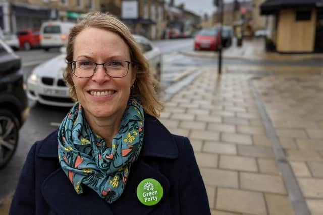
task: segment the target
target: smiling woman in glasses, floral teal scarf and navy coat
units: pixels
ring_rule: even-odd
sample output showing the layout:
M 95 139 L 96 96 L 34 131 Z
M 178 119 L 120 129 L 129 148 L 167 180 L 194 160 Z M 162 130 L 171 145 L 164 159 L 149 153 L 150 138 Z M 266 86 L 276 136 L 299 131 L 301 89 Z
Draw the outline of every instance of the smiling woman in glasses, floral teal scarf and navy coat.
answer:
M 161 103 L 127 27 L 89 14 L 66 60 L 77 102 L 32 146 L 10 214 L 210 214 L 190 142 L 156 119 Z

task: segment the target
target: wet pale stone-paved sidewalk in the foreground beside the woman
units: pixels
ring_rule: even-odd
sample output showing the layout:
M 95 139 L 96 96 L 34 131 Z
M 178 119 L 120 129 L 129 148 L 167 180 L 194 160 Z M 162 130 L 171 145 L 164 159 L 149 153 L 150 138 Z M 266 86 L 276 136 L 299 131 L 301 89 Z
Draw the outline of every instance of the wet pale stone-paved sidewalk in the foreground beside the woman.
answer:
M 217 77 L 216 68 L 204 68 L 165 103 L 160 120 L 171 132 L 190 138 L 213 215 L 322 214 L 323 77 L 265 76 L 253 81 L 260 97 L 255 98 L 252 76 Z M 271 131 L 259 113 L 262 100 Z M 279 137 L 290 175 L 278 168 L 282 160 L 275 162 L 271 132 Z M 303 205 L 286 188 L 293 188 L 290 178 L 295 176 L 294 188 L 306 198 Z

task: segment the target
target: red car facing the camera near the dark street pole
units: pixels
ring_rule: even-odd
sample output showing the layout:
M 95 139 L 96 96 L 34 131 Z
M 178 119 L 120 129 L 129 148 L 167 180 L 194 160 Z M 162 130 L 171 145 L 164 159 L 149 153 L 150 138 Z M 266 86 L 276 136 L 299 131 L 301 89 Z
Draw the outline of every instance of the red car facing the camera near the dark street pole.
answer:
M 216 37 L 217 35 L 217 37 Z M 203 29 L 198 32 L 194 39 L 194 50 L 216 51 L 220 45 L 218 28 Z

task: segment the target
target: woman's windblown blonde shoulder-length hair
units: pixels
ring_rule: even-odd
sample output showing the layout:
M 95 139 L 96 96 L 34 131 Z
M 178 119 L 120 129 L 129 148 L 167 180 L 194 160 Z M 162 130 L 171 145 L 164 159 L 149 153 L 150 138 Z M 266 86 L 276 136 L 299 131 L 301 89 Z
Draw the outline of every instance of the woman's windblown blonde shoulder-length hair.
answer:
M 131 90 L 131 94 L 139 96 L 141 104 L 146 113 L 159 117 L 163 105 L 158 99 L 158 96 L 154 89 L 155 79 L 150 71 L 149 63 L 143 56 L 141 49 L 136 43 L 130 30 L 125 24 L 119 21 L 114 16 L 101 13 L 91 12 L 84 18 L 78 21 L 78 23 L 71 29 L 67 47 L 66 47 L 66 61 L 73 61 L 74 41 L 77 35 L 86 28 L 98 28 L 106 31 L 117 33 L 124 42 L 128 45 L 130 51 L 130 59 L 135 63 L 133 71 L 136 74 L 136 80 Z M 64 79 L 67 86 L 70 88 L 70 95 L 74 100 L 77 100 L 77 95 L 74 83 L 72 80 L 72 69 L 70 64 L 67 65 L 64 70 Z

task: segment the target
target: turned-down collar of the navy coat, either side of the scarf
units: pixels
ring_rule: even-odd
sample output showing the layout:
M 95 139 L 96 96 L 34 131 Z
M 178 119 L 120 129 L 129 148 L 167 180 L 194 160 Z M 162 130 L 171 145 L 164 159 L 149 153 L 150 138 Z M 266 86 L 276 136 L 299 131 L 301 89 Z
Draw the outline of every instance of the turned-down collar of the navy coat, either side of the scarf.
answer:
M 141 156 L 177 158 L 178 149 L 174 137 L 157 118 L 145 114 L 144 131 Z M 57 134 L 58 130 L 52 132 L 43 140 L 44 144 L 41 144 L 36 151 L 37 156 L 44 158 L 58 157 Z

